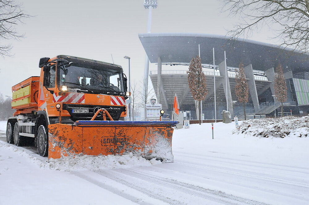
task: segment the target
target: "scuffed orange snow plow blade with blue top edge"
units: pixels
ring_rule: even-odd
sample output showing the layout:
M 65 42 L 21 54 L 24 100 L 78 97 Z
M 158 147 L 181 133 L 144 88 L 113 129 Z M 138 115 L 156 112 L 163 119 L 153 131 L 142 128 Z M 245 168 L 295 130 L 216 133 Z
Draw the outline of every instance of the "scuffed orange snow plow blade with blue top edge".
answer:
M 133 154 L 172 162 L 177 121 L 76 121 L 50 124 L 48 159 L 74 155 Z

